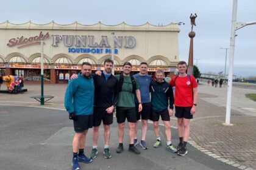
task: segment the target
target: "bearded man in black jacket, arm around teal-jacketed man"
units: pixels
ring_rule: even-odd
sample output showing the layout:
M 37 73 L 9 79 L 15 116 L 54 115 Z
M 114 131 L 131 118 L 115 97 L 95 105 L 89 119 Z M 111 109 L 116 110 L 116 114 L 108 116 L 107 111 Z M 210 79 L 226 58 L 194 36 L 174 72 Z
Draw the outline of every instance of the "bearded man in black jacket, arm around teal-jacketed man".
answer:
M 94 108 L 93 108 L 93 149 L 90 158 L 96 158 L 98 154 L 99 126 L 104 125 L 104 157 L 111 158 L 108 148 L 110 141 L 110 124 L 113 123 L 113 110 L 118 99 L 118 80 L 112 75 L 113 61 L 104 61 L 104 70 L 101 75 L 93 74 L 94 80 Z M 76 78 L 76 75 L 72 75 Z

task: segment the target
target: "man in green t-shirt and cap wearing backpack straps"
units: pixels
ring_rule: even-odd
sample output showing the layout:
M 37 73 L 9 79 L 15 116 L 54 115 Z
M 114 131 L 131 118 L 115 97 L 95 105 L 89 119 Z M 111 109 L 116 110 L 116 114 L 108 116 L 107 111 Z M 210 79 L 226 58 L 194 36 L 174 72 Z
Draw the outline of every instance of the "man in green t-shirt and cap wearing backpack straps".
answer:
M 137 113 L 135 109 L 135 95 L 138 99 L 138 112 L 142 110 L 141 95 L 137 78 L 130 75 L 132 71 L 132 64 L 129 62 L 124 63 L 123 73 L 116 75 L 118 79 L 118 103 L 116 104 L 116 120 L 118 122 L 118 141 L 119 145 L 116 149 L 117 153 L 121 153 L 124 150 L 123 138 L 124 138 L 124 126 L 127 118 L 129 126 L 129 151 L 135 154 L 140 154 L 137 148 L 134 146 L 134 134 L 135 123 L 137 122 Z

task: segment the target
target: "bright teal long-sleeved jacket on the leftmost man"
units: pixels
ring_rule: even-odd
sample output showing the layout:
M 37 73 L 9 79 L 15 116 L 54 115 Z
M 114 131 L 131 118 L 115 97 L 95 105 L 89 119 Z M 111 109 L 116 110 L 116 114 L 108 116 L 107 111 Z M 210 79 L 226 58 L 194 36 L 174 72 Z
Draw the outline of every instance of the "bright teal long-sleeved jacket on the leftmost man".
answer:
M 78 78 L 71 80 L 65 94 L 65 107 L 68 113 L 76 115 L 93 114 L 94 83 L 93 78 L 86 78 L 79 73 Z

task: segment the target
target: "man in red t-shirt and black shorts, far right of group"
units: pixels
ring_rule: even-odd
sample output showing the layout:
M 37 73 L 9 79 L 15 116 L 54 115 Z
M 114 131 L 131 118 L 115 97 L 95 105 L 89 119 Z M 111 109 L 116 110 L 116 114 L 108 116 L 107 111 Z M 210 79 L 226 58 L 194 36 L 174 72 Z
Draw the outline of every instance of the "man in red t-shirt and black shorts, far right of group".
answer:
M 177 147 L 178 155 L 188 153 L 187 142 L 190 136 L 190 119 L 193 118 L 197 106 L 197 83 L 192 75 L 187 75 L 187 63 L 178 63 L 179 76 L 173 77 L 170 84 L 176 87 L 174 95 L 175 116 L 178 118 L 178 134 L 180 143 Z

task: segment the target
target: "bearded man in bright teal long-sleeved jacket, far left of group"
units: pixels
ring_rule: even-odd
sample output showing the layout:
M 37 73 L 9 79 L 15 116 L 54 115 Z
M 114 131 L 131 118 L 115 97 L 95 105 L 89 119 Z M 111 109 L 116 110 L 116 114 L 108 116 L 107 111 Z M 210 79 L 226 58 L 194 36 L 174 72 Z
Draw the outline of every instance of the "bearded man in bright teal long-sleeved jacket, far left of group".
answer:
M 84 154 L 88 129 L 93 127 L 94 83 L 91 77 L 91 64 L 83 63 L 78 78 L 71 80 L 65 94 L 65 107 L 69 119 L 74 122 L 73 170 L 80 169 L 79 161 L 90 163 Z

